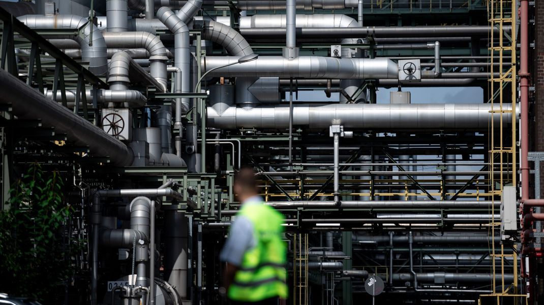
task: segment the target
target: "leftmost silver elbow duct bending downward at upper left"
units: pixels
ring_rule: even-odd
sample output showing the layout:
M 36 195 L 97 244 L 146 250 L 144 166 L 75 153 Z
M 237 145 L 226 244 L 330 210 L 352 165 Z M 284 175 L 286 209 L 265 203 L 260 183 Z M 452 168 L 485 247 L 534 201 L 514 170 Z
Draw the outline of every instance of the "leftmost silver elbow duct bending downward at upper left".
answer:
M 91 26 L 86 17 L 75 15 L 26 15 L 17 17 L 19 21 L 32 29 L 81 29 L 80 35 L 55 35 L 51 38 L 73 39 L 79 43 L 82 59 L 89 62 L 89 71 L 97 75 L 106 73 L 108 68 L 108 53 L 106 41 L 97 27 Z M 92 30 L 91 30 L 92 28 Z M 91 39 L 92 31 L 92 41 Z

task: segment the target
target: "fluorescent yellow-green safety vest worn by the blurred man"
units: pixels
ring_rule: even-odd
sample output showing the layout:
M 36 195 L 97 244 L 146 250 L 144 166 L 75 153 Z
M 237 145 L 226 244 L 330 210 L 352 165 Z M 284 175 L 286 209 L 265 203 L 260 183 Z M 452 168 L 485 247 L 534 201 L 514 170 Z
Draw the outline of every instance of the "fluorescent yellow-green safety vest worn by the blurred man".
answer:
M 287 247 L 281 239 L 283 215 L 263 204 L 243 205 L 238 215 L 251 221 L 256 245 L 245 252 L 228 288 L 228 297 L 242 302 L 287 298 Z

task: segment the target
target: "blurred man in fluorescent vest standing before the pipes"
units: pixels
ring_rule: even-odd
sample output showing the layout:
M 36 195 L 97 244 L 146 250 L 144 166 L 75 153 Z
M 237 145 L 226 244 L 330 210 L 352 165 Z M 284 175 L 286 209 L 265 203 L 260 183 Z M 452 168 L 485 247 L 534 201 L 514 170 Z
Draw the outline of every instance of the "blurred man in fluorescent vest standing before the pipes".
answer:
M 234 177 L 234 193 L 242 207 L 221 251 L 226 268 L 219 293 L 232 304 L 276 305 L 287 298 L 283 215 L 263 204 L 251 168 L 242 168 Z

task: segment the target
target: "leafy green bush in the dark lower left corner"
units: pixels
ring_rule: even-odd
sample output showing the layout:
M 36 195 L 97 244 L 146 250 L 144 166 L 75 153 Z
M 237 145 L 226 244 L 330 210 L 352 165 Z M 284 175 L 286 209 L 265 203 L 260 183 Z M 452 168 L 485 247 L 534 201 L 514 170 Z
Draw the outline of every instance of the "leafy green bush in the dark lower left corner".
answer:
M 10 197 L 10 209 L 0 212 L 0 292 L 56 302 L 72 272 L 70 250 L 78 246 L 63 234 L 72 208 L 61 176 L 33 164 Z

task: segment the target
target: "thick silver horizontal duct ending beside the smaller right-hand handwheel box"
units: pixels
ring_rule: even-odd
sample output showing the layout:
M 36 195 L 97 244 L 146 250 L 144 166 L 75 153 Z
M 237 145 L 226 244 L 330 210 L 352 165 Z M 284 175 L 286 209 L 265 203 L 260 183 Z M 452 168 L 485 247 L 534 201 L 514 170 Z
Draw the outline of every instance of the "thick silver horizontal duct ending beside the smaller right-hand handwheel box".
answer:
M 218 68 L 209 75 L 327 79 L 398 78 L 398 65 L 389 59 L 299 56 L 289 60 L 282 56 L 260 56 L 250 62 L 237 63 L 239 59 L 239 56 L 206 56 L 202 58 L 202 73 Z M 219 68 L 229 63 L 232 66 Z

